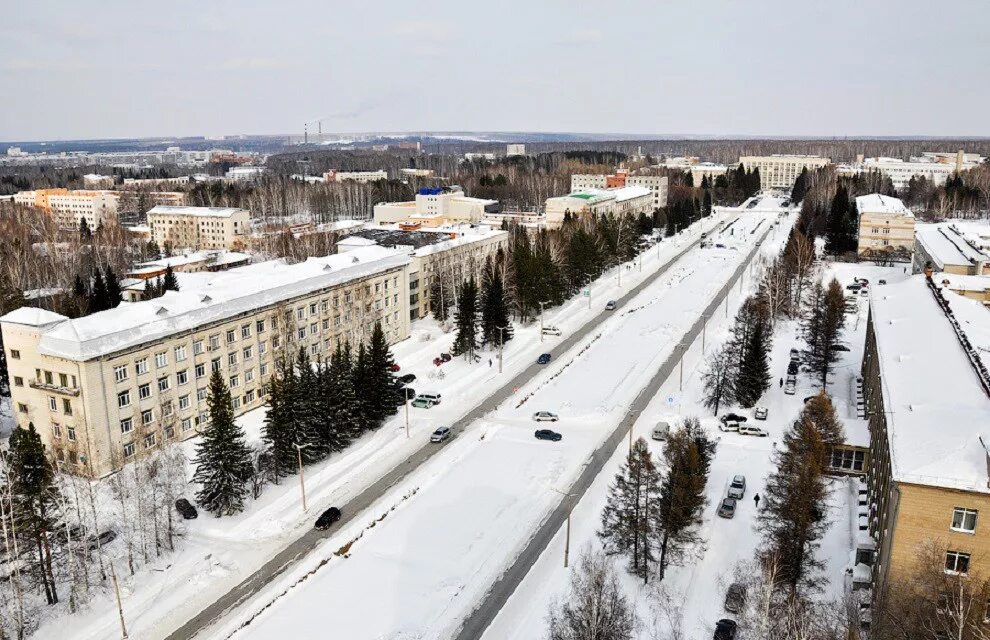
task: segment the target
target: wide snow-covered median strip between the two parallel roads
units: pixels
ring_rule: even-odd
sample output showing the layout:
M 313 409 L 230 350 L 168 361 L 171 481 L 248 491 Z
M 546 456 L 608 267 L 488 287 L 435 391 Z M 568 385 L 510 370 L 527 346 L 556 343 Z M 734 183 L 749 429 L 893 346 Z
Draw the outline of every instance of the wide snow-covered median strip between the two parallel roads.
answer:
M 521 406 L 506 403 L 476 421 L 209 637 L 321 629 L 355 640 L 449 637 L 731 276 L 759 237 L 749 231 L 771 218 L 740 219 L 713 240 L 725 248 L 687 254 L 521 388 Z M 551 426 L 561 442 L 533 438 L 531 414 L 543 409 L 560 414 Z M 344 555 L 334 553 L 359 533 Z

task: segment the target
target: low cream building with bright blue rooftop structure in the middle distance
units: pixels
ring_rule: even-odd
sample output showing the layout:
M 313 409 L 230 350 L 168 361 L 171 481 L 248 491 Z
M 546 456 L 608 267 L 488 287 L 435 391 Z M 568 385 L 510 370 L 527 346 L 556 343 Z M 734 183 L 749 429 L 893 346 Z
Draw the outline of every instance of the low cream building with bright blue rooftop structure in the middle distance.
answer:
M 469 198 L 460 187 L 424 187 L 412 202 L 380 202 L 375 222 L 421 222 L 428 226 L 449 223 L 476 224 L 486 213 L 498 213 L 498 200 Z

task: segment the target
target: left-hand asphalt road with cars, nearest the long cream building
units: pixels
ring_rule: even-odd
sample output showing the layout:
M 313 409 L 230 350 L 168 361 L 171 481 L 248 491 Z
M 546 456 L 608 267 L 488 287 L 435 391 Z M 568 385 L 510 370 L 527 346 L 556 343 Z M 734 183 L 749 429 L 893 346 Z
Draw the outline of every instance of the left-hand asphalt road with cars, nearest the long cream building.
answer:
M 622 308 L 622 306 L 624 306 L 629 300 L 631 300 L 634 296 L 636 296 L 636 294 L 638 294 L 640 291 L 646 288 L 651 282 L 653 282 L 654 280 L 662 276 L 664 273 L 666 273 L 667 270 L 674 265 L 674 263 L 676 263 L 688 251 L 693 249 L 698 244 L 698 242 L 699 242 L 698 240 L 695 240 L 694 242 L 690 243 L 682 251 L 678 252 L 670 260 L 668 260 L 666 264 L 660 267 L 660 269 L 657 270 L 655 274 L 653 274 L 651 277 L 641 282 L 636 287 L 630 289 L 621 298 L 617 299 L 616 300 L 617 309 L 615 311 L 602 311 L 597 316 L 586 322 L 583 327 L 575 331 L 566 339 L 559 342 L 556 347 L 552 349 L 548 349 L 548 352 L 552 353 L 556 357 L 566 352 L 568 349 L 570 349 L 578 342 L 583 340 L 585 337 L 587 337 L 589 334 L 595 331 L 602 322 L 612 317 L 613 315 L 619 313 L 619 310 Z M 694 331 L 695 329 L 697 329 L 697 327 L 692 328 L 692 331 Z M 536 375 L 538 375 L 539 373 L 545 370 L 546 370 L 545 366 L 538 365 L 535 362 L 530 366 L 528 366 L 525 370 L 523 370 L 515 377 L 513 377 L 511 380 L 503 384 L 493 394 L 488 396 L 488 398 L 486 398 L 480 404 L 478 404 L 469 412 L 467 412 L 459 420 L 454 422 L 451 425 L 451 432 L 453 436 L 456 437 L 458 434 L 464 431 L 464 429 L 469 424 L 481 418 L 485 414 L 494 411 L 504 400 L 510 398 L 515 393 L 515 389 L 526 384 L 533 377 L 535 377 Z M 637 398 L 637 402 L 638 401 L 639 398 Z M 645 401 L 646 400 L 644 400 L 644 403 Z M 621 430 L 622 429 L 620 427 L 617 433 L 620 432 Z M 622 434 L 619 433 L 620 437 L 621 435 Z M 453 438 L 448 439 L 447 443 L 449 443 L 451 440 L 453 440 Z M 611 442 L 611 440 L 612 439 L 610 438 L 609 442 Z M 190 638 L 195 637 L 204 629 L 212 625 L 217 620 L 227 615 L 229 612 L 236 609 L 238 606 L 243 604 L 245 601 L 251 598 L 262 588 L 270 584 L 272 580 L 274 580 L 276 577 L 281 575 L 286 569 L 290 568 L 301 558 L 305 557 L 325 538 L 333 535 L 333 533 L 337 530 L 338 527 L 346 524 L 351 519 L 360 515 L 365 509 L 371 507 L 376 501 L 378 501 L 383 495 L 385 495 L 385 493 L 389 489 L 391 489 L 397 483 L 402 481 L 410 473 L 418 469 L 420 465 L 422 465 L 424 462 L 426 462 L 427 460 L 435 456 L 437 453 L 439 453 L 441 450 L 443 450 L 444 446 L 446 446 L 447 443 L 441 446 L 428 443 L 425 444 L 420 449 L 418 449 L 417 451 L 415 451 L 412 455 L 410 455 L 401 463 L 393 467 L 388 473 L 386 473 L 384 476 L 379 478 L 373 484 L 368 486 L 364 491 L 356 495 L 349 502 L 340 505 L 340 511 L 342 517 L 337 522 L 336 525 L 334 525 L 327 531 L 317 531 L 316 529 L 307 530 L 306 533 L 304 533 L 299 538 L 292 541 L 284 549 L 279 551 L 278 554 L 276 554 L 271 560 L 269 560 L 264 565 L 262 565 L 253 574 L 251 574 L 246 579 L 244 579 L 244 581 L 242 581 L 240 584 L 238 584 L 236 587 L 234 587 L 224 595 L 220 596 L 217 600 L 214 600 L 209 606 L 207 606 L 205 609 L 200 611 L 198 614 L 196 614 L 194 617 L 192 617 L 190 620 L 184 623 L 181 627 L 173 631 L 170 635 L 166 637 L 166 640 L 189 640 Z M 615 449 L 614 444 L 608 448 L 609 451 L 612 451 L 614 449 Z M 599 451 L 601 451 L 601 449 Z M 599 452 L 596 452 L 595 455 L 597 456 L 598 453 Z M 604 460 L 605 459 L 603 458 L 602 464 L 604 464 Z M 582 478 L 583 477 L 584 476 L 582 476 Z M 589 483 L 591 481 L 591 478 L 594 478 L 594 475 L 592 475 L 589 478 L 588 480 Z M 559 522 L 559 519 L 557 518 L 558 511 L 560 511 L 560 508 L 558 508 L 557 511 L 553 513 L 553 518 L 551 518 L 551 521 Z M 535 560 L 535 557 L 533 559 Z M 513 567 L 513 569 L 515 569 L 515 567 Z M 521 580 L 522 576 L 524 575 L 525 572 L 522 573 L 519 579 Z M 505 597 L 502 598 L 501 600 L 502 603 L 504 603 L 505 599 L 508 598 L 508 595 L 512 593 L 511 589 L 514 589 L 515 588 L 514 585 L 517 583 L 518 580 L 513 583 L 513 586 L 506 593 Z M 486 603 L 487 602 L 488 600 L 486 600 Z M 501 606 L 502 604 L 499 604 L 498 608 L 501 608 Z M 494 613 L 498 612 L 498 608 L 494 610 Z M 492 613 L 491 617 L 494 617 L 494 613 Z M 491 618 L 488 618 L 488 622 L 490 621 Z M 488 626 L 488 622 L 485 622 L 484 627 L 480 627 L 482 631 L 484 630 L 485 627 Z M 474 638 L 478 636 L 462 634 L 461 637 Z

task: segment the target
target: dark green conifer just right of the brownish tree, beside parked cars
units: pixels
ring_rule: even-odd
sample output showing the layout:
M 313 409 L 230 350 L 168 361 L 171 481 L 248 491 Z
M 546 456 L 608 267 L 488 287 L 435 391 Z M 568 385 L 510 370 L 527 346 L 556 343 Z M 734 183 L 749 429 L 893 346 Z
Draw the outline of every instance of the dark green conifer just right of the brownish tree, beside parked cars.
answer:
M 715 443 L 708 439 L 697 418 L 688 418 L 683 428 L 667 436 L 663 450 L 666 471 L 655 516 L 660 580 L 668 566 L 682 560 L 701 543 L 698 525 L 714 455 Z

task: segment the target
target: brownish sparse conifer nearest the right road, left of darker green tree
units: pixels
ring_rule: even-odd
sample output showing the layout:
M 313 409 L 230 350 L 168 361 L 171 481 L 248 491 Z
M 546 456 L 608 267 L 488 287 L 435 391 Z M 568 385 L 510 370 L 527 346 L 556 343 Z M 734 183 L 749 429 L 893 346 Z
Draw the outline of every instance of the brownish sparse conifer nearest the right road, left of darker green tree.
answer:
M 640 438 L 609 488 L 598 537 L 606 552 L 629 556 L 629 570 L 644 579 L 649 563 L 655 560 L 651 543 L 659 507 L 660 472 L 649 446 Z

